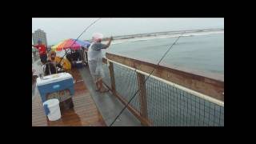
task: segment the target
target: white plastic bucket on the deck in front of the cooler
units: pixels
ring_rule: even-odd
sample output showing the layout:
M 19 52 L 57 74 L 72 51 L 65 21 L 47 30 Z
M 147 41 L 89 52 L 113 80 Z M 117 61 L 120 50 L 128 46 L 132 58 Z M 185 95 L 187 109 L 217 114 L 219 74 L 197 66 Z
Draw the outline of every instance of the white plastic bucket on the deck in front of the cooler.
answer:
M 50 113 L 47 115 L 50 121 L 56 121 L 62 117 L 58 99 L 49 99 L 43 102 L 43 105 L 47 105 L 50 110 Z

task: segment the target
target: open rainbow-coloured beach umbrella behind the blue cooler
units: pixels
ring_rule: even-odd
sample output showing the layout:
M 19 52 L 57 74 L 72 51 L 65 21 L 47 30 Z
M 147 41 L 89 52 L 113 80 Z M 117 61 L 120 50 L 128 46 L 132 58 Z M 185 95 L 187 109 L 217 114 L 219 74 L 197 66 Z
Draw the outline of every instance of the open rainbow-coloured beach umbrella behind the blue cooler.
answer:
M 71 49 L 71 50 L 79 50 L 82 47 L 88 48 L 90 46 L 90 42 L 85 42 L 81 40 L 75 40 L 73 38 L 66 39 L 65 41 L 59 42 L 57 45 L 52 46 L 52 50 L 66 50 L 66 49 Z

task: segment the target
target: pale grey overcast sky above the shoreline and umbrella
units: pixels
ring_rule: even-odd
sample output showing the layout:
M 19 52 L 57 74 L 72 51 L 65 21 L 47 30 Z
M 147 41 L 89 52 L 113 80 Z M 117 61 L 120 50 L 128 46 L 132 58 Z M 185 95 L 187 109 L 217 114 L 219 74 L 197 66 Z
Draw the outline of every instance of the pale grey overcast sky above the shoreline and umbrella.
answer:
M 32 32 L 44 30 L 48 45 L 79 34 L 97 18 L 32 18 Z M 168 30 L 224 28 L 224 18 L 102 18 L 79 39 L 90 39 L 94 32 L 110 35 L 140 34 Z

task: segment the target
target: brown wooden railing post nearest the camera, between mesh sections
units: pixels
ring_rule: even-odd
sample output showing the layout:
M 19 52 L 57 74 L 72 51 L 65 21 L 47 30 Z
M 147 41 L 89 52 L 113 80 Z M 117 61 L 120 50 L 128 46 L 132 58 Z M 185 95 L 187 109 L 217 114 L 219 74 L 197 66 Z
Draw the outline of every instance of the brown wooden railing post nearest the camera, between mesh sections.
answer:
M 138 81 L 138 98 L 140 103 L 140 114 L 142 118 L 148 120 L 147 115 L 147 102 L 146 102 L 146 84 L 145 84 L 145 75 L 137 73 L 137 81 Z M 142 122 L 143 126 L 148 126 L 147 123 Z

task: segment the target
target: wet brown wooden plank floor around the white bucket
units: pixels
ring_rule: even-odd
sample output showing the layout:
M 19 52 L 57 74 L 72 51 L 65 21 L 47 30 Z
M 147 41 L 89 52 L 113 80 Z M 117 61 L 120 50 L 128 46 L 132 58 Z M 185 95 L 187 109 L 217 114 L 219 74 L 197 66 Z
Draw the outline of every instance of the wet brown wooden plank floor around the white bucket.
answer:
M 106 126 L 85 83 L 80 81 L 82 77 L 79 71 L 74 69 L 70 74 L 78 81 L 74 84 L 74 108 L 62 111 L 61 119 L 50 122 L 43 111 L 41 98 L 37 95 L 32 101 L 32 126 Z

